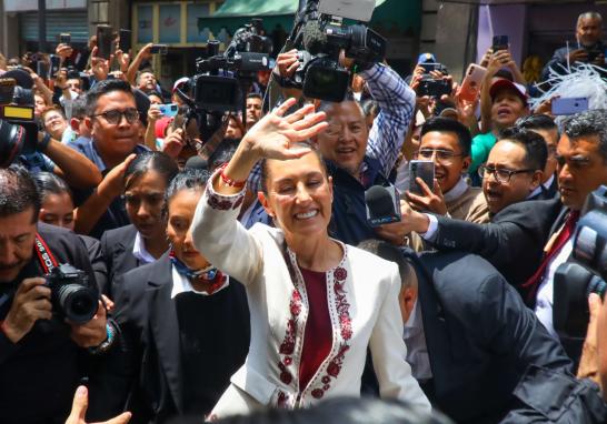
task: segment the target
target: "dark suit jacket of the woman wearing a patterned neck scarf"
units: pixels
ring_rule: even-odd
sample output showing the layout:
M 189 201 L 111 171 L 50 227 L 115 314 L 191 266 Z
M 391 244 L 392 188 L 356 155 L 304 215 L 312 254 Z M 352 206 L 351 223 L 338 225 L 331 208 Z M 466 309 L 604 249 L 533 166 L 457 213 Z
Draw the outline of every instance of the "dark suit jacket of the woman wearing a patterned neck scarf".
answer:
M 121 349 L 116 350 L 112 369 L 107 373 L 115 381 L 115 412 L 128 410 L 133 423 L 163 422 L 175 414 L 183 414 L 183 375 L 180 333 L 175 301 L 171 300 L 172 275 L 168 254 L 157 262 L 140 266 L 117 277 L 116 320 L 121 331 Z M 245 287 L 230 280 L 229 314 L 233 332 L 223 350 L 225 361 L 233 371 L 245 362 L 250 339 L 249 309 Z M 212 325 L 221 325 L 215 323 Z M 222 366 L 215 364 L 216 366 Z M 202 384 L 203 382 L 201 382 Z M 222 393 L 217 394 L 217 400 Z M 126 402 L 125 402 L 126 400 Z

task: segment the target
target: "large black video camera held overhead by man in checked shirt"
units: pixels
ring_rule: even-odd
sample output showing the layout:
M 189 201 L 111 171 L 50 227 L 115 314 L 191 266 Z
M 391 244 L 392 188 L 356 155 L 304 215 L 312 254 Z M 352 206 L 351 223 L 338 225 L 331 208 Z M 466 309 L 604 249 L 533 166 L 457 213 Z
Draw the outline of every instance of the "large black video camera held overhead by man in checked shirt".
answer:
M 375 0 L 364 0 L 356 8 L 342 0 L 308 0 L 300 10 L 289 37 L 298 49 L 299 67 L 291 79 L 282 81 L 312 99 L 340 102 L 350 87 L 350 70 L 339 64 L 346 58 L 366 69 L 386 57 L 386 39 L 362 22 L 371 19 Z M 344 19 L 359 23 L 346 26 Z

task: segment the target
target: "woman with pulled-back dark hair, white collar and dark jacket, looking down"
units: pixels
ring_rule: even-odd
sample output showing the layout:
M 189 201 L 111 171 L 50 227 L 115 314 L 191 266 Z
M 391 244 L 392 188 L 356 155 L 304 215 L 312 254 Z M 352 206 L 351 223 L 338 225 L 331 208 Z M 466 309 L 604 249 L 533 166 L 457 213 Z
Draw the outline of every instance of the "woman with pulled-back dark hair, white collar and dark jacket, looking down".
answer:
M 106 231 L 101 249 L 108 265 L 111 297 L 116 275 L 159 259 L 168 249 L 162 219 L 165 191 L 177 174 L 175 161 L 161 152 L 138 154 L 125 172 L 125 204 L 130 225 Z

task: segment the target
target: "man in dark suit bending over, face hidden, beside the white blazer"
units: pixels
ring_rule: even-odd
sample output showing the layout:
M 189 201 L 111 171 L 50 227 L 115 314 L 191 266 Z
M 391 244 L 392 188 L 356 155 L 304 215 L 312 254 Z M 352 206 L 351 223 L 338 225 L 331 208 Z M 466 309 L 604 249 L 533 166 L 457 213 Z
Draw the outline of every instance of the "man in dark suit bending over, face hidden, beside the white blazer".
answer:
M 513 407 L 533 404 L 530 396 L 513 395 L 521 378 L 534 378 L 529 366 L 574 380 L 559 343 L 481 258 L 461 252 L 418 256 L 377 240 L 359 248 L 398 264 L 407 361 L 432 406 L 457 423 L 497 423 Z M 554 394 L 559 382 L 541 384 L 550 393 L 541 406 L 558 410 Z M 581 386 L 563 392 L 576 396 Z M 590 391 L 585 396 L 597 403 L 600 395 Z M 601 416 L 607 413 L 598 410 Z

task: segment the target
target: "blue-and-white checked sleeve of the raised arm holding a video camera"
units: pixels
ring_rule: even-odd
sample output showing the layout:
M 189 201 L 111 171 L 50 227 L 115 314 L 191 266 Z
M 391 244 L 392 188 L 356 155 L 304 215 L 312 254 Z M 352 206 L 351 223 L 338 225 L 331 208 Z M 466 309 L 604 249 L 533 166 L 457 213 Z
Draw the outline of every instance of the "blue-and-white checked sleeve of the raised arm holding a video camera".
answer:
M 381 171 L 388 175 L 414 119 L 416 93 L 396 71 L 382 63 L 374 64 L 360 75 L 380 108 L 369 133 L 367 154 L 379 160 Z

